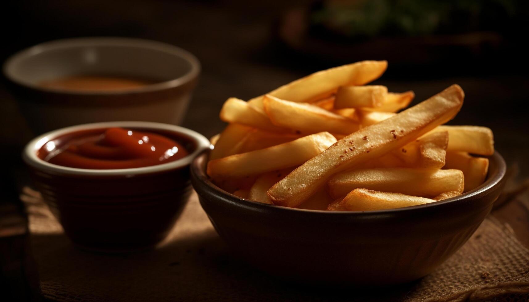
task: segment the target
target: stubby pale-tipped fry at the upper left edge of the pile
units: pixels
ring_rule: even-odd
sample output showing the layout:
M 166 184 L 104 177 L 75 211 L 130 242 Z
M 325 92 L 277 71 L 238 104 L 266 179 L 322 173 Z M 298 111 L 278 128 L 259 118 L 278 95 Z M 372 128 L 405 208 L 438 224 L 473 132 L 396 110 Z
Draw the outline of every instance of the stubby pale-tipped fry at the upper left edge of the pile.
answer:
M 222 105 L 221 120 L 238 123 L 266 131 L 286 133 L 288 130 L 273 125 L 268 116 L 260 109 L 249 105 L 244 100 L 230 97 Z

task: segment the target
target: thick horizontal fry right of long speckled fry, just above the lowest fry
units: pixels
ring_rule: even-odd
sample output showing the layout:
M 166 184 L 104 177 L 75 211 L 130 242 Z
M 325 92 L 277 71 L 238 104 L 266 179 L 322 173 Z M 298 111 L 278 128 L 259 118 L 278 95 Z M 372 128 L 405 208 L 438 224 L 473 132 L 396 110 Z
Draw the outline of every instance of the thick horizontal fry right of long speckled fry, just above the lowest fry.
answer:
M 446 191 L 463 192 L 460 170 L 423 170 L 413 168 L 360 169 L 342 172 L 327 181 L 332 198 L 344 197 L 354 189 L 369 189 L 406 195 L 435 197 Z

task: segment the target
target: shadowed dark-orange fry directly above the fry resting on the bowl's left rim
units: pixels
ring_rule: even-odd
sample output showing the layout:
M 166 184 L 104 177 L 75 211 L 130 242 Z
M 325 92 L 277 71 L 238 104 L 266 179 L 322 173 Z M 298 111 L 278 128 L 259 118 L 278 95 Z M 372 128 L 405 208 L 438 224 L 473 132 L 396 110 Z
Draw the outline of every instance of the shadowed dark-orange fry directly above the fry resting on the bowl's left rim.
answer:
M 241 143 L 239 144 L 240 148 L 237 150 L 236 153 L 233 154 L 264 149 L 282 143 L 291 142 L 299 138 L 301 138 L 300 135 L 294 135 L 289 133 L 280 134 L 275 132 L 267 132 L 260 129 L 254 129 L 249 133 L 249 135 L 245 136 L 241 140 Z

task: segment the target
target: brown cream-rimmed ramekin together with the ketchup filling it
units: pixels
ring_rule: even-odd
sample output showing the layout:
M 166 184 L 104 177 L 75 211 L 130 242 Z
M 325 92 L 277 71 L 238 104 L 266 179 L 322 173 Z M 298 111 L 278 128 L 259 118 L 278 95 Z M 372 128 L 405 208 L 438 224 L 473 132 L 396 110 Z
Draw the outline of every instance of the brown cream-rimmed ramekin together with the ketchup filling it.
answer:
M 189 165 L 209 146 L 180 126 L 105 122 L 45 133 L 23 158 L 75 245 L 122 252 L 167 236 L 191 193 Z

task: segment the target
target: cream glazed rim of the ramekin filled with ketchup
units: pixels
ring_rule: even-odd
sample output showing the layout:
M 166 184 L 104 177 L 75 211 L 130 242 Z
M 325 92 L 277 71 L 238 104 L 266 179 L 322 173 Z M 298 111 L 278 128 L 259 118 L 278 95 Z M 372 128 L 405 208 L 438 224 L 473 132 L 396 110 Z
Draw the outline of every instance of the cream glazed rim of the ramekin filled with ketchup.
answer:
M 196 144 L 196 148 L 193 152 L 189 153 L 187 156 L 167 162 L 162 164 L 157 164 L 154 166 L 140 167 L 140 168 L 127 168 L 127 169 L 80 169 L 80 168 L 71 168 L 59 166 L 58 164 L 49 163 L 40 159 L 37 156 L 37 151 L 39 151 L 42 146 L 57 138 L 62 134 L 67 134 L 70 132 L 76 132 L 80 130 L 89 130 L 97 128 L 108 128 L 108 127 L 132 127 L 132 128 L 144 128 L 152 130 L 166 130 L 171 132 L 176 132 L 188 136 L 190 140 L 193 140 Z M 181 167 L 188 166 L 195 157 L 204 152 L 204 150 L 210 149 L 211 143 L 204 135 L 187 129 L 185 127 L 155 123 L 155 122 L 136 122 L 136 121 L 120 121 L 120 122 L 101 122 L 101 123 L 90 123 L 90 124 L 81 124 L 75 126 L 69 126 L 57 130 L 53 130 L 42 135 L 37 136 L 32 139 L 24 147 L 22 158 L 26 164 L 30 167 L 43 170 L 51 173 L 58 173 L 61 175 L 77 175 L 77 176 L 132 176 L 132 175 L 142 175 L 147 173 L 156 173 L 163 172 L 167 170 L 178 169 Z

